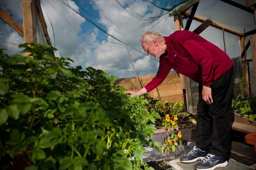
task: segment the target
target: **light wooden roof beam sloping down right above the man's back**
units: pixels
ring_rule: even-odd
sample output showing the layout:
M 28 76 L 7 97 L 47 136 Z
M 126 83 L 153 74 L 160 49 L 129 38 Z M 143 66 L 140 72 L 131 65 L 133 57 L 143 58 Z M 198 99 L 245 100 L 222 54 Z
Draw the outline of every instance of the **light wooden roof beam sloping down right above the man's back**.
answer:
M 183 13 L 183 16 L 184 16 L 184 17 L 189 18 L 189 15 L 190 15 L 189 12 L 184 12 L 184 13 Z M 195 16 L 194 16 L 194 20 L 203 23 L 203 22 L 206 21 L 207 19 L 201 18 L 201 17 L 198 17 L 198 16 L 195 15 Z M 222 30 L 222 27 L 223 27 L 223 26 L 221 26 L 220 24 L 217 24 L 217 23 L 215 23 L 215 22 L 213 22 L 212 24 L 210 24 L 210 26 L 215 27 L 215 28 L 218 28 L 218 29 L 220 29 L 220 30 Z M 241 37 L 241 36 L 244 36 L 244 33 L 238 32 L 238 31 L 233 30 L 233 29 L 230 29 L 230 28 L 228 28 L 228 27 L 223 27 L 223 29 L 224 29 L 224 31 L 226 31 L 226 32 L 228 32 L 228 33 L 231 33 L 231 34 L 233 34 L 233 35 L 237 35 L 237 36 L 240 36 L 240 37 Z

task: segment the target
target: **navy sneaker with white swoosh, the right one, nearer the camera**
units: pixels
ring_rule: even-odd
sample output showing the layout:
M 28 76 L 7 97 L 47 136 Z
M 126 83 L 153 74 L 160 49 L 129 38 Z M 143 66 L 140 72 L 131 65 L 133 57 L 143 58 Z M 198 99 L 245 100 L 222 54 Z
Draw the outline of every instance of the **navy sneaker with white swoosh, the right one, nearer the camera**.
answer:
M 214 170 L 215 168 L 226 167 L 227 164 L 226 159 L 208 153 L 207 156 L 204 157 L 201 162 L 195 164 L 194 167 L 197 170 Z

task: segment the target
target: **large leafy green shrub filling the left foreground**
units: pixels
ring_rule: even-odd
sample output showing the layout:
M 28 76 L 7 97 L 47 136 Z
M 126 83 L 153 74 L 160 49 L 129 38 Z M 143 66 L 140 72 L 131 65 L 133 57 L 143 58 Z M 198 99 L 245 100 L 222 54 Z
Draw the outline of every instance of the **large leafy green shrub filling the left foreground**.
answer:
M 151 137 L 160 117 L 147 100 L 124 94 L 101 70 L 53 60 L 49 45 L 20 47 L 35 59 L 0 50 L 3 168 L 23 154 L 34 169 L 148 169 L 142 144 L 161 148 Z

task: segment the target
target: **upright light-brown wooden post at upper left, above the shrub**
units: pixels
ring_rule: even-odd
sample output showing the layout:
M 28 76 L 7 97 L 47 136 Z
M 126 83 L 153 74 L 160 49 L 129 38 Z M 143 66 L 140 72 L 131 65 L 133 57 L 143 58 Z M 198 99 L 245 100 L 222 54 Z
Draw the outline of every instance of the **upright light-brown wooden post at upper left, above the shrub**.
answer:
M 24 43 L 37 43 L 35 0 L 22 0 Z

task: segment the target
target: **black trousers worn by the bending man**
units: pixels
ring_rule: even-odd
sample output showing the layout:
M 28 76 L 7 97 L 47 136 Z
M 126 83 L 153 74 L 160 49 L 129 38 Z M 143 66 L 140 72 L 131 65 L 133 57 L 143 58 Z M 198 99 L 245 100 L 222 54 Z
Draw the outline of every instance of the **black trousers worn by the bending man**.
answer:
M 224 159 L 229 158 L 233 85 L 232 67 L 213 81 L 210 105 L 202 98 L 203 86 L 198 87 L 196 146 Z

